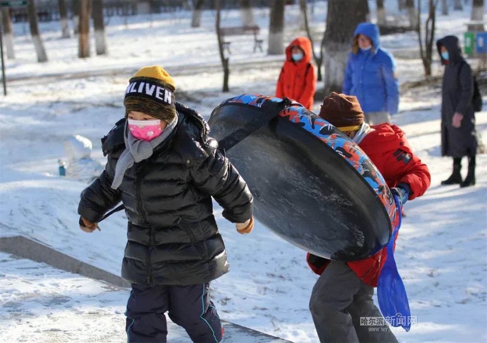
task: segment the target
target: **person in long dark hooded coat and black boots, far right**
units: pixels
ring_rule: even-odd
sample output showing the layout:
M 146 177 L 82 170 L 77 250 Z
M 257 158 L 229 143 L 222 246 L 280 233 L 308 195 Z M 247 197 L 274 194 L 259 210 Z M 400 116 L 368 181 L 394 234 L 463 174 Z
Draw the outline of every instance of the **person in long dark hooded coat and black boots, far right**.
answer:
M 441 98 L 441 154 L 453 157 L 453 172 L 442 185 L 475 185 L 475 114 L 472 105 L 473 76 L 462 57 L 458 38 L 446 36 L 436 42 L 441 64 L 445 66 Z M 468 157 L 468 173 L 462 181 L 462 157 Z

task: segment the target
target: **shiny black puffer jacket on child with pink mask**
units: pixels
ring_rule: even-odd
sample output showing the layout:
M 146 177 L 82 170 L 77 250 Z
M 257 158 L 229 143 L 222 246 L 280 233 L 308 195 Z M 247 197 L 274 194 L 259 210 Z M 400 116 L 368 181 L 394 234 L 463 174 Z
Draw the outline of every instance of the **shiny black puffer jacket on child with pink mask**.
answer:
M 252 216 L 252 195 L 207 136 L 205 120 L 184 105 L 176 110 L 173 133 L 112 190 L 115 165 L 125 150 L 125 119 L 120 120 L 103 142 L 105 171 L 81 193 L 78 213 L 91 222 L 123 202 L 129 223 L 122 277 L 134 284 L 194 285 L 228 271 L 211 196 L 230 222 L 244 223 Z

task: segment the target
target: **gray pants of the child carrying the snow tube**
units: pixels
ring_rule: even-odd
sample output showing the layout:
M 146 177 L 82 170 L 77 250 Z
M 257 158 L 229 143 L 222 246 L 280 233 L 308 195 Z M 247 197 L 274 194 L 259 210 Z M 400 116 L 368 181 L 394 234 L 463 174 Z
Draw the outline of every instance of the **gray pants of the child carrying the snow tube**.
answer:
M 360 317 L 383 318 L 373 295 L 374 287 L 364 284 L 345 262 L 331 261 L 309 302 L 319 341 L 396 343 L 387 324 L 360 325 Z

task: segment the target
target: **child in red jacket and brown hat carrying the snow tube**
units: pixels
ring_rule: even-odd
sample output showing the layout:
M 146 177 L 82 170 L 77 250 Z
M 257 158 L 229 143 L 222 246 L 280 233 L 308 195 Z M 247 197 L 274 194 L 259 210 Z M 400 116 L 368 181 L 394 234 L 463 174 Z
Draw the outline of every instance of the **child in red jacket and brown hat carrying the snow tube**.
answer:
M 332 93 L 325 97 L 319 116 L 358 144 L 401 205 L 423 195 L 430 186 L 428 167 L 414 156 L 404 132 L 389 123 L 364 123 L 355 96 Z M 320 275 L 310 299 L 320 342 L 397 342 L 387 325 L 373 330 L 360 325 L 360 317 L 382 318 L 372 296 L 386 259 L 385 247 L 371 257 L 348 263 L 308 253 L 309 266 Z

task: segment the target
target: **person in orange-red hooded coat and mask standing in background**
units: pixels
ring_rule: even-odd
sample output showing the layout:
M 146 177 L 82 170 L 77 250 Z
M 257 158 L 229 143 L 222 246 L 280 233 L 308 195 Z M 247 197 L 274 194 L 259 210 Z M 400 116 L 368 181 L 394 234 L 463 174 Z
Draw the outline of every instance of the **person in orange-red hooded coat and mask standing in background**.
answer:
M 276 96 L 289 97 L 308 110 L 313 109 L 316 91 L 315 67 L 311 63 L 313 47 L 306 37 L 294 39 L 286 48 L 286 61 L 277 81 Z

